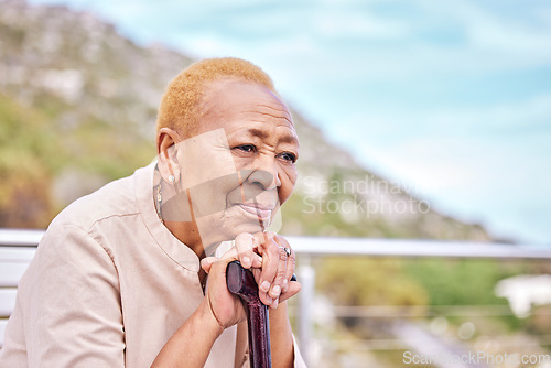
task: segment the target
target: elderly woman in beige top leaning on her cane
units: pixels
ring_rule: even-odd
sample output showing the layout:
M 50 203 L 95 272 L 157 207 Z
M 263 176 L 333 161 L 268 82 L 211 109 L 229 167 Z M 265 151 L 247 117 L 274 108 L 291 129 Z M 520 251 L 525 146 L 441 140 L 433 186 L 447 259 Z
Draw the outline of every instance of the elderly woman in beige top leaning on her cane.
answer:
M 246 315 L 226 267 L 252 269 L 273 367 L 302 366 L 285 300 L 294 253 L 267 231 L 299 139 L 269 76 L 208 59 L 168 87 L 158 160 L 63 210 L 22 278 L 2 367 L 241 367 Z

